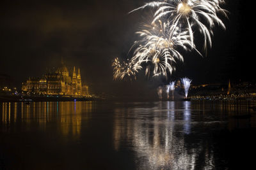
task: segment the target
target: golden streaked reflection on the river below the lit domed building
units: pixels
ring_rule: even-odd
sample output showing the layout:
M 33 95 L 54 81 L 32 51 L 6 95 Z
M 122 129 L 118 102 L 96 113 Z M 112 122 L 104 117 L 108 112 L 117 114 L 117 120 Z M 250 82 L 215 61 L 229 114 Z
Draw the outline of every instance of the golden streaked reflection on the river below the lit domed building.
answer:
M 1 124 L 13 129 L 22 123 L 22 127 L 37 124 L 45 130 L 47 125 L 56 123 L 56 130 L 63 136 L 79 137 L 82 119 L 85 123 L 92 112 L 92 102 L 38 102 L 38 103 L 1 103 Z M 54 126 L 55 127 L 55 126 Z

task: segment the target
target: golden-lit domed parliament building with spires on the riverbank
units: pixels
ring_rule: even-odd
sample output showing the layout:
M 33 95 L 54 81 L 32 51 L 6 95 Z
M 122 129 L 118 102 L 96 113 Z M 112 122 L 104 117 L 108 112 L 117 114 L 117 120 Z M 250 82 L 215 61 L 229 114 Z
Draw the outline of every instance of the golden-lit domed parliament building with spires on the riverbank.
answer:
M 82 83 L 80 69 L 74 67 L 72 76 L 61 60 L 61 67 L 48 71 L 39 78 L 28 78 L 22 83 L 22 91 L 27 94 L 89 96 L 88 86 Z

